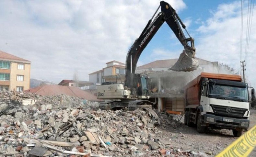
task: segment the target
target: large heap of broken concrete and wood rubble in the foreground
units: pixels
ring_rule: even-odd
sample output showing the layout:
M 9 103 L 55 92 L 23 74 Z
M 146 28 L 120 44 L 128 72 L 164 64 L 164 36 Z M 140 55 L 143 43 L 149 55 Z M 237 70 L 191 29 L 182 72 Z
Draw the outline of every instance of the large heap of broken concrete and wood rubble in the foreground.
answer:
M 192 156 L 156 138 L 157 126 L 178 125 L 167 114 L 98 106 L 67 95 L 0 93 L 0 156 Z

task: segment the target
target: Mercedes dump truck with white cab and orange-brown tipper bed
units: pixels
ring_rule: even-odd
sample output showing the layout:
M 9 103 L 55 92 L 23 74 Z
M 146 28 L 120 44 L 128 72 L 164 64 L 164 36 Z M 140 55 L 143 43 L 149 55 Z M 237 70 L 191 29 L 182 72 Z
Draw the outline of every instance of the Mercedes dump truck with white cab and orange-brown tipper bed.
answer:
M 231 129 L 235 137 L 250 125 L 249 88 L 240 75 L 201 73 L 185 85 L 184 123 L 197 132 Z

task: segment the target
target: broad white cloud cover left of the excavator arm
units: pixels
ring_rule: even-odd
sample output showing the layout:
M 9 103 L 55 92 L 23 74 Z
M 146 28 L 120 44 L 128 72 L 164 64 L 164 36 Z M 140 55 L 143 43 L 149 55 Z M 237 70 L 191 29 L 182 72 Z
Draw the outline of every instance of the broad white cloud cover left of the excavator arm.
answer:
M 0 1 L 0 49 L 31 61 L 31 78 L 81 80 L 126 53 L 158 1 Z M 183 1 L 169 0 L 175 9 Z

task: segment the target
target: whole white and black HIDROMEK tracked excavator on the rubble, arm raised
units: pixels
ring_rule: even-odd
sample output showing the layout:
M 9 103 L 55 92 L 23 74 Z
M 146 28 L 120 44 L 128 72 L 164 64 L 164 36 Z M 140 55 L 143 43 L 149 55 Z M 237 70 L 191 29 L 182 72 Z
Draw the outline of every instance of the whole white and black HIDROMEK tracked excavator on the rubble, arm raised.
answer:
M 160 7 L 161 11 L 157 14 Z M 198 68 L 199 63 L 194 58 L 194 39 L 189 35 L 186 30 L 186 26 L 181 21 L 176 10 L 168 3 L 161 1 L 156 12 L 148 21 L 142 33 L 135 40 L 127 53 L 124 83 L 103 82 L 97 87 L 97 98 L 109 100 L 100 103 L 100 109 L 114 110 L 127 108 L 128 111 L 133 111 L 137 108 L 150 107 L 154 105 L 154 102 L 148 101 L 150 94 L 149 77 L 146 74 L 136 73 L 136 67 L 142 51 L 164 22 L 169 25 L 184 47 L 178 61 L 169 70 L 190 72 Z M 186 30 L 189 38 L 185 37 L 181 27 Z

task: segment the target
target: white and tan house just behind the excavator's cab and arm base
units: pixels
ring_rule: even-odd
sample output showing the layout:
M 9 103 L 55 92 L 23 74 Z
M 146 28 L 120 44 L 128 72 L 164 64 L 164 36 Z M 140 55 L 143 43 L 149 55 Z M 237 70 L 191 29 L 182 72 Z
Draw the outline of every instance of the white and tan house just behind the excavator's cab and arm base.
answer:
M 89 82 L 93 83 L 93 85 L 91 85 L 89 88 L 96 89 L 97 85 L 100 85 L 102 82 L 120 82 L 124 75 L 125 63 L 118 61 L 107 62 L 105 68 L 93 73 L 89 73 Z

